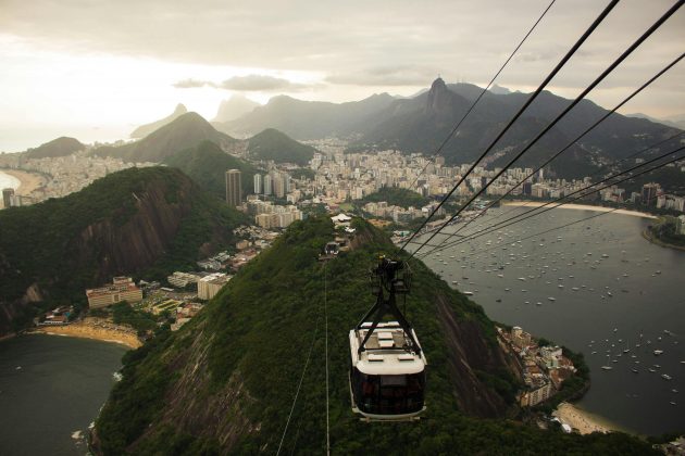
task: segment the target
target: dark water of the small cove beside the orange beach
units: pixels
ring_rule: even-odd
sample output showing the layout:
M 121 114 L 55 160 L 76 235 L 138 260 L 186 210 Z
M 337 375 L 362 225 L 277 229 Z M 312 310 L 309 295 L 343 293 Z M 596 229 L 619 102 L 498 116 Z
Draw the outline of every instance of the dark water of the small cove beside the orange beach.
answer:
M 0 342 L 0 455 L 85 455 L 125 351 L 45 334 Z

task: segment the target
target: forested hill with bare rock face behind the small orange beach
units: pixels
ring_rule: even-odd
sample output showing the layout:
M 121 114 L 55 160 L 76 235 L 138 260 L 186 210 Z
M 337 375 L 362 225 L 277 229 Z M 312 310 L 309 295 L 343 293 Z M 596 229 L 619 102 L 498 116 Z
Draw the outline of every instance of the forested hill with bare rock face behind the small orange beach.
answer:
M 112 276 L 167 274 L 233 243 L 244 216 L 165 167 L 129 168 L 0 211 L 0 335 L 34 305 L 85 301 Z M 26 320 L 28 319 L 28 320 Z

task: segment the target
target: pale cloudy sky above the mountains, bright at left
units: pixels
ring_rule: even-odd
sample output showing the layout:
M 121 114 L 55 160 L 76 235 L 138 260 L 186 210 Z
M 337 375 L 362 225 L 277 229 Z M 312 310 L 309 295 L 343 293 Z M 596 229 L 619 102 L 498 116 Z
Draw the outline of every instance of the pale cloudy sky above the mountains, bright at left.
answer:
M 182 102 L 234 93 L 342 102 L 437 75 L 485 85 L 550 0 L 0 0 L 0 151 L 127 137 Z M 550 89 L 574 97 L 674 0 L 623 0 Z M 557 0 L 497 80 L 530 91 L 603 9 Z M 685 51 L 676 12 L 590 99 L 612 107 Z M 685 114 L 685 63 L 624 113 Z

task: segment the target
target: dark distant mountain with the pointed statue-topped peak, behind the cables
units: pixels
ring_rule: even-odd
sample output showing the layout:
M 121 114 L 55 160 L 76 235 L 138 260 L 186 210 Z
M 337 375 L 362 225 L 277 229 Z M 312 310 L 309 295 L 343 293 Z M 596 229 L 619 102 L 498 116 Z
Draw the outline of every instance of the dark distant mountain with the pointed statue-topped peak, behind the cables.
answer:
M 368 122 L 366 130 L 352 144 L 353 149 L 397 149 L 404 152 L 434 153 L 466 112 L 482 89 L 471 84 L 446 85 L 434 81 L 431 90 L 411 100 L 396 100 L 376 113 L 376 123 Z M 497 94 L 487 92 L 477 107 L 448 142 L 443 155 L 448 163 L 475 160 L 496 138 L 503 126 L 530 97 L 530 93 Z M 493 166 L 506 164 L 512 154 L 525 147 L 570 100 L 544 91 L 501 138 L 490 153 Z M 607 110 L 589 100 L 578 103 L 514 166 L 535 166 L 551 156 Z M 572 145 L 552 162 L 552 170 L 560 177 L 587 175 L 601 157 L 621 159 L 639 149 L 671 136 L 675 130 L 665 125 L 614 114 Z

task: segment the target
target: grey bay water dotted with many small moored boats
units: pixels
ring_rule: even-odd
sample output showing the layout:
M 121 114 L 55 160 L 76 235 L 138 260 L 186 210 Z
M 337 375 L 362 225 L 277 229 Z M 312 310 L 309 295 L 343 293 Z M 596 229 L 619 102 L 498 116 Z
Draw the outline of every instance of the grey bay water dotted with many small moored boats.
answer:
M 463 232 L 523 211 L 488 211 Z M 685 252 L 650 244 L 648 219 L 619 214 L 516 242 L 594 214 L 559 208 L 425 262 L 491 319 L 582 352 L 593 384 L 581 408 L 638 433 L 685 430 Z

